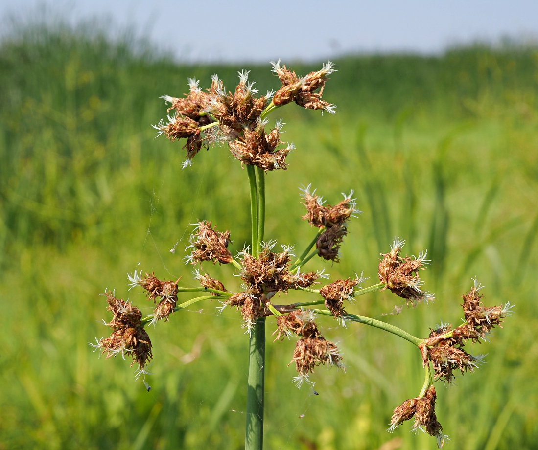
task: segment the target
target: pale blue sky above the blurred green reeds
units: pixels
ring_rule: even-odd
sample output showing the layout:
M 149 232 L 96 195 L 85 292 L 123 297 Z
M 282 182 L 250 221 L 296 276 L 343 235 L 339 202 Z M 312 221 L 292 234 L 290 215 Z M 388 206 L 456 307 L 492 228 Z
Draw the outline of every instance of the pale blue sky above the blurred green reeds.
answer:
M 190 61 L 312 60 L 349 52 L 439 52 L 476 39 L 538 37 L 538 0 L 0 0 L 2 17 L 109 17 Z

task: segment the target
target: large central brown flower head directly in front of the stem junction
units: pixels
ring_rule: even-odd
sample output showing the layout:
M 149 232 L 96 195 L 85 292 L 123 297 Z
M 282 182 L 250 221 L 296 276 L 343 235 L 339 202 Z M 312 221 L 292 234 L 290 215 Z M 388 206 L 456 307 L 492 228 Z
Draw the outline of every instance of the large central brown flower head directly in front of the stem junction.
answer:
M 257 258 L 246 251 L 240 253 L 240 263 L 243 266 L 240 276 L 245 285 L 259 292 L 287 292 L 288 289 L 297 287 L 307 288 L 317 278 L 325 277 L 322 272 L 289 272 L 293 247 L 282 245 L 282 252 L 275 253 L 272 249 L 276 242 L 263 242 Z

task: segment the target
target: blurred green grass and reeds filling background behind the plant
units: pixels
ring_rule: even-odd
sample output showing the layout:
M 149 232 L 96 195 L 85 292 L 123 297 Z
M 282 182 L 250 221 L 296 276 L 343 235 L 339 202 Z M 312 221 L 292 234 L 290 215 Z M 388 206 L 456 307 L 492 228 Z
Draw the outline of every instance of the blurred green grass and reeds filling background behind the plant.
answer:
M 437 384 L 437 416 L 447 448 L 536 448 L 538 51 L 472 46 L 336 62 L 324 97 L 337 115 L 289 105 L 272 118 L 285 119 L 297 150 L 287 172 L 267 176 L 266 238 L 298 251 L 312 239 L 301 184 L 329 203 L 355 189 L 364 213 L 342 262 L 325 265 L 332 280 L 364 270 L 375 282 L 394 235 L 433 259 L 424 279 L 437 300 L 386 316 L 391 323 L 421 336 L 441 320 L 459 323 L 472 276 L 486 285 L 486 303 L 515 303 L 504 329 L 472 348 L 489 353 L 487 364 L 457 386 Z M 290 63 L 298 73 L 319 66 Z M 249 240 L 246 173 L 228 150 L 202 152 L 181 170 L 181 145 L 154 139 L 150 126 L 165 116 L 158 97 L 181 95 L 187 76 L 208 85 L 217 72 L 232 87 L 242 68 L 261 91 L 278 87 L 268 65 L 182 66 L 62 27 L 1 42 L 0 448 L 242 447 L 247 337 L 235 311 L 204 304 L 149 330 L 149 393 L 128 362 L 98 359 L 87 344 L 107 333 L 97 323 L 108 318 L 105 288 L 151 311 L 126 287 L 135 268 L 194 285 L 182 263 L 189 223 L 230 229 L 235 250 Z M 236 287 L 228 267 L 206 269 Z M 379 317 L 395 304 L 384 291 L 349 311 Z M 420 390 L 416 349 L 320 321 L 348 371 L 316 370 L 314 396 L 291 382 L 294 342 L 268 344 L 266 447 L 375 449 L 401 439 L 400 448 L 435 448 L 407 424 L 385 432 L 392 409 Z

